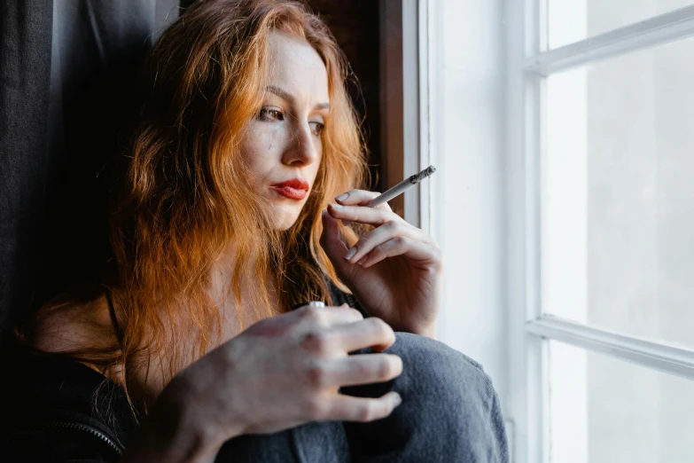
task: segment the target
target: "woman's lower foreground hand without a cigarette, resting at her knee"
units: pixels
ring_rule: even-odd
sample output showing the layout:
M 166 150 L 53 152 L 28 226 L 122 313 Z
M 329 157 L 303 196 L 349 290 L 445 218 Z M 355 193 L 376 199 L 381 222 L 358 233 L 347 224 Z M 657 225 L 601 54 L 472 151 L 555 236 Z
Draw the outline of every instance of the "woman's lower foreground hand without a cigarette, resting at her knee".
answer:
M 205 441 L 218 445 L 308 421 L 378 420 L 400 404 L 396 392 L 362 398 L 338 389 L 402 373 L 402 359 L 394 355 L 347 355 L 365 347 L 380 352 L 394 341 L 384 321 L 364 319 L 347 304 L 304 306 L 266 318 L 201 357 L 160 399 L 182 406 L 185 422 L 204 428 Z

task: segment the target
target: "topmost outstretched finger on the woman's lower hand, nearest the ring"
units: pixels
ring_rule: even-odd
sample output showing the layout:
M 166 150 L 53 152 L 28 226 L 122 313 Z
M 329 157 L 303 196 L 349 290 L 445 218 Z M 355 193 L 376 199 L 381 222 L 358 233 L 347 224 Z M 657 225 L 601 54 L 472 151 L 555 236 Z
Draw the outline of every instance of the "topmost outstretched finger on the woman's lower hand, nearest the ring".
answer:
M 370 317 L 349 325 L 331 328 L 331 339 L 337 349 L 351 352 L 363 348 L 386 350 L 395 342 L 393 328 L 380 318 Z

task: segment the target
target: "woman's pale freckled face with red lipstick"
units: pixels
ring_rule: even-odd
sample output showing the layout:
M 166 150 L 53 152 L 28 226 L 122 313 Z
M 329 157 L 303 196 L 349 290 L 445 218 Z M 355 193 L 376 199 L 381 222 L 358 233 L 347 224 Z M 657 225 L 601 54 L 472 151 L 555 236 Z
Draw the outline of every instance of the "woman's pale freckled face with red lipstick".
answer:
M 255 191 L 271 204 L 275 227 L 287 230 L 308 200 L 323 155 L 328 73 L 307 42 L 278 32 L 270 35 L 269 69 L 262 108 L 246 122 L 241 154 Z

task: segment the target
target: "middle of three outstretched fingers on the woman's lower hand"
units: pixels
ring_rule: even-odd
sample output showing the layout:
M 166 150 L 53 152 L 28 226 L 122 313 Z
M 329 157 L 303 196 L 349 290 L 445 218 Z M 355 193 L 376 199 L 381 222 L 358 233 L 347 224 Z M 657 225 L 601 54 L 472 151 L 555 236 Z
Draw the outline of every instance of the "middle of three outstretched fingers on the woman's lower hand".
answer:
M 339 358 L 324 367 L 327 381 L 339 387 L 390 381 L 402 374 L 402 358 L 362 354 Z

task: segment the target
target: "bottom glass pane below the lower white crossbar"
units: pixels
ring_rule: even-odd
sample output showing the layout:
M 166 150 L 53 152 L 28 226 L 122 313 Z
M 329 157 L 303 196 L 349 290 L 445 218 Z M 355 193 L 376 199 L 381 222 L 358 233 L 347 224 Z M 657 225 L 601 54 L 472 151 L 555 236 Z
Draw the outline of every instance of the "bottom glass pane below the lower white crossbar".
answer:
M 694 381 L 547 343 L 552 463 L 694 461 Z

